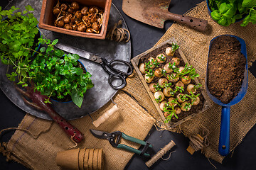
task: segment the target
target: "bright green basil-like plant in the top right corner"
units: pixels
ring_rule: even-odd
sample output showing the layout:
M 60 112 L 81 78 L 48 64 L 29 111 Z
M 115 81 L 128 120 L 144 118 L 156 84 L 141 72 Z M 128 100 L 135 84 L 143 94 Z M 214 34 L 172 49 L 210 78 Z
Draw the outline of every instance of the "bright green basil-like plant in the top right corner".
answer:
M 238 19 L 243 19 L 240 26 L 256 23 L 256 0 L 209 0 L 210 14 L 220 26 L 230 26 Z

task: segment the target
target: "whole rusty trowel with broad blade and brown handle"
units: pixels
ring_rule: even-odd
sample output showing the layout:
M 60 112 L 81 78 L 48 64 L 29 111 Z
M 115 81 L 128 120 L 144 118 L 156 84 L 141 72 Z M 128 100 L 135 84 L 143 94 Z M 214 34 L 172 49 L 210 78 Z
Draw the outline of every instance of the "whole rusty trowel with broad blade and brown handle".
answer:
M 164 22 L 172 20 L 199 31 L 207 29 L 206 20 L 169 12 L 170 2 L 171 0 L 123 0 L 122 10 L 127 16 L 158 28 L 164 28 Z

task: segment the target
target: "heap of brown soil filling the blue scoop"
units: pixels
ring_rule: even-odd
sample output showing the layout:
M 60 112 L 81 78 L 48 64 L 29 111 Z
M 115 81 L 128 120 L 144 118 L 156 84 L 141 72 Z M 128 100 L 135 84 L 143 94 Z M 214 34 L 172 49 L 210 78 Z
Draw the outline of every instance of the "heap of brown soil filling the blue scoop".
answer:
M 216 38 L 210 47 L 207 86 L 225 104 L 238 95 L 244 78 L 246 59 L 240 50 L 240 42 L 229 35 Z

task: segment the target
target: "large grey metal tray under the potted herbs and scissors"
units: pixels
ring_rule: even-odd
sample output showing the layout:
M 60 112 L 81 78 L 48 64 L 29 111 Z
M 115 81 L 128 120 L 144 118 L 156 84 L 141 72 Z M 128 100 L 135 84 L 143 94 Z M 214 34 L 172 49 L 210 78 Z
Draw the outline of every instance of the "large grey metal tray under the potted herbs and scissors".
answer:
M 8 6 L 6 6 L 6 9 L 11 8 L 11 6 L 16 6 L 20 8 L 18 11 L 23 11 L 25 9 L 25 6 L 28 4 L 35 8 L 33 14 L 39 20 L 42 4 L 41 1 L 16 0 L 12 1 Z M 114 23 L 117 23 L 119 20 L 122 20 L 122 28 L 128 29 L 124 18 L 122 18 L 121 13 L 119 13 L 117 7 L 112 4 L 108 28 L 112 28 L 112 26 L 114 26 Z M 110 40 L 95 40 L 90 38 L 74 37 L 71 35 L 54 33 L 49 30 L 41 31 L 43 35 L 45 35 L 46 38 L 50 40 L 58 39 L 61 43 L 73 45 L 74 47 L 78 47 L 82 50 L 93 52 L 100 57 L 105 57 L 108 61 L 114 59 L 130 61 L 131 58 L 130 41 L 127 43 L 117 43 Z M 68 120 L 82 118 L 87 114 L 94 113 L 102 106 L 105 106 L 105 104 L 110 101 L 110 99 L 117 93 L 117 90 L 112 89 L 112 87 L 108 84 L 108 74 L 102 69 L 99 64 L 95 64 L 82 58 L 80 58 L 80 62 L 82 62 L 82 64 L 85 65 L 87 71 L 92 74 L 92 82 L 93 84 L 95 84 L 95 86 L 86 92 L 81 108 L 75 106 L 73 102 L 60 103 L 53 101 L 53 108 L 55 109 L 55 111 L 62 115 L 63 118 Z M 126 67 L 119 66 L 118 69 L 127 72 Z M 0 87 L 4 94 L 6 94 L 6 96 L 16 106 L 21 108 L 26 113 L 35 115 L 38 118 L 52 120 L 47 113 L 38 111 L 35 108 L 27 106 L 23 102 L 21 94 L 16 91 L 14 84 L 7 79 L 5 75 L 6 70 L 6 65 L 0 62 Z

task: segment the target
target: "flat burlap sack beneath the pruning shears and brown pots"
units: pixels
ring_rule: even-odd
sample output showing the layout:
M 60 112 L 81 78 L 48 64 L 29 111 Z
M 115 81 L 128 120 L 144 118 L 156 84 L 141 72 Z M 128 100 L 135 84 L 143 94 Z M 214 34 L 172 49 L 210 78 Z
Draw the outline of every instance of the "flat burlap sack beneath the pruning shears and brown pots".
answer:
M 85 140 L 78 145 L 79 148 L 102 148 L 105 155 L 105 169 L 124 169 L 133 153 L 112 147 L 108 140 L 94 137 L 89 130 L 96 129 L 107 132 L 120 130 L 127 135 L 144 140 L 154 123 L 154 119 L 122 91 L 114 98 L 114 103 L 117 103 L 119 111 L 98 128 L 92 125 L 89 116 L 72 120 L 70 123 L 84 134 Z M 97 119 L 112 106 L 112 102 L 107 103 L 107 106 L 93 113 L 92 118 Z M 29 114 L 21 121 L 18 128 L 28 130 L 28 132 L 16 130 L 8 142 L 7 151 L 11 152 L 11 159 L 24 164 L 29 169 L 60 169 L 55 162 L 56 154 L 75 145 L 56 123 Z M 140 145 L 127 140 L 121 142 L 136 149 L 140 147 Z

